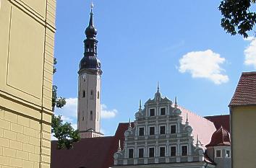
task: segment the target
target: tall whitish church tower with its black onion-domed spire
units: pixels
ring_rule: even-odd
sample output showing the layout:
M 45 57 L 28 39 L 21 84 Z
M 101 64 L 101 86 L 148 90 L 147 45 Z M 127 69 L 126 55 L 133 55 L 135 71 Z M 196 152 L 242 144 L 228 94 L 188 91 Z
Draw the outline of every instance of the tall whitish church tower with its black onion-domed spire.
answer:
M 97 30 L 93 25 L 93 4 L 85 30 L 85 52 L 79 65 L 77 128 L 81 138 L 103 136 L 101 122 L 101 61 L 97 57 Z

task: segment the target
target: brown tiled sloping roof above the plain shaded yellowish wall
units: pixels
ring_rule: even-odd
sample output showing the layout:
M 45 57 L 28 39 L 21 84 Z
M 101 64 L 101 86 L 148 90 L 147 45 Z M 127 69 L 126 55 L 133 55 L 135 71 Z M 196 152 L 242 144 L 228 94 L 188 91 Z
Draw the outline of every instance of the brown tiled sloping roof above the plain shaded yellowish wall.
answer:
M 256 71 L 242 73 L 229 103 L 234 105 L 256 105 Z

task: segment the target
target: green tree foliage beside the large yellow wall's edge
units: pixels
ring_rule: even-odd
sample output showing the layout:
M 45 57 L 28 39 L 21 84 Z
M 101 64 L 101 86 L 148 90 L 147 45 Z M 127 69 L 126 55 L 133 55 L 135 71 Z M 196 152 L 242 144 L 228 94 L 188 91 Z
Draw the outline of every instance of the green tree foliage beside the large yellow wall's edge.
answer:
M 56 73 L 56 58 L 54 58 L 54 74 Z M 55 108 L 62 108 L 66 105 L 66 100 L 64 97 L 58 97 L 57 95 L 58 87 L 53 85 L 52 88 L 52 110 Z M 72 143 L 80 140 L 79 132 L 72 128 L 71 123 L 63 123 L 61 120 L 61 115 L 52 115 L 51 118 L 51 133 L 54 137 L 58 139 L 58 149 L 72 149 Z

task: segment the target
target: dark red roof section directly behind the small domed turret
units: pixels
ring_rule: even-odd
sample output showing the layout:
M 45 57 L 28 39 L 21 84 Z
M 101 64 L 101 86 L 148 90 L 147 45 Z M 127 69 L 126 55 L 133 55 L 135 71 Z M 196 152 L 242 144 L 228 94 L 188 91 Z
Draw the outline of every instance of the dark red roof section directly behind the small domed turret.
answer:
M 223 128 L 225 128 L 226 131 L 230 132 L 229 115 L 213 115 L 213 116 L 205 116 L 204 118 L 213 122 L 216 130 L 218 130 L 218 128 L 221 128 L 221 126 L 223 126 Z

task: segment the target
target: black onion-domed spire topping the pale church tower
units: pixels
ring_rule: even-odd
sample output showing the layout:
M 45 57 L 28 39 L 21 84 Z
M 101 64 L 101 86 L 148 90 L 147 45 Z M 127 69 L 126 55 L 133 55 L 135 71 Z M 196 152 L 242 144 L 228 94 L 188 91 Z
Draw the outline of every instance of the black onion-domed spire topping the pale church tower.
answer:
M 85 43 L 85 53 L 80 61 L 80 71 L 82 69 L 87 69 L 92 72 L 98 72 L 102 74 L 101 71 L 101 61 L 97 57 L 97 45 L 98 40 L 96 40 L 97 30 L 93 25 L 93 4 L 90 6 L 90 21 L 89 25 L 85 30 L 86 39 Z

